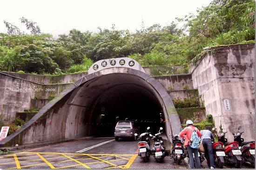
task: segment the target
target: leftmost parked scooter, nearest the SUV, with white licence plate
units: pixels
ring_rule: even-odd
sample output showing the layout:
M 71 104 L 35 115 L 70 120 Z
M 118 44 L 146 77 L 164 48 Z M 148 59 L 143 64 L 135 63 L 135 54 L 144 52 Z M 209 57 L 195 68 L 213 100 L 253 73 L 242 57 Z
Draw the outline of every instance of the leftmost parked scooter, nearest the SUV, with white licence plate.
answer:
M 147 128 L 147 131 L 144 133 L 141 133 L 141 135 L 138 137 L 138 139 L 141 139 L 141 141 L 138 143 L 138 155 L 143 160 L 143 162 L 148 162 L 149 156 L 151 154 L 150 150 L 150 139 L 148 130 L 150 127 Z M 135 133 L 135 136 L 138 136 L 137 133 Z

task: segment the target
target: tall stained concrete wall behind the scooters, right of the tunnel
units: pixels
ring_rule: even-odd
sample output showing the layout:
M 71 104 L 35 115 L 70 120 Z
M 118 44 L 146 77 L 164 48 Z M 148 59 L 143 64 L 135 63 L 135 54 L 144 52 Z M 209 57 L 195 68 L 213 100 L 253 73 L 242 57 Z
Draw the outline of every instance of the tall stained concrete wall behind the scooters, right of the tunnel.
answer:
M 192 67 L 194 88 L 203 96 L 207 114 L 226 137 L 242 126 L 245 140 L 255 139 L 255 45 L 219 46 Z

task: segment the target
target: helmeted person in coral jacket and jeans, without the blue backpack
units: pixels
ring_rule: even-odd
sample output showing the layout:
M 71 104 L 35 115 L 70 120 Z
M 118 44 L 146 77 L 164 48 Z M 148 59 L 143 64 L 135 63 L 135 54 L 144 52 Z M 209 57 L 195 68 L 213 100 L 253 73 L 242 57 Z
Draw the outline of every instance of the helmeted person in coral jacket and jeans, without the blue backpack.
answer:
M 196 131 L 196 134 L 197 134 L 198 137 L 201 137 L 202 135 L 201 135 L 201 132 L 193 125 L 192 120 L 187 120 L 186 124 L 187 124 L 187 127 L 185 127 L 179 133 L 179 136 L 180 137 L 185 137 L 184 145 L 187 147 L 187 150 L 188 150 L 188 153 L 189 153 L 190 169 L 194 169 L 193 153 L 195 155 L 195 168 L 196 169 L 201 169 L 200 160 L 199 160 L 199 157 L 197 157 L 198 149 L 191 148 L 191 146 L 189 145 L 189 141 L 190 141 L 190 137 L 191 137 L 194 130 Z

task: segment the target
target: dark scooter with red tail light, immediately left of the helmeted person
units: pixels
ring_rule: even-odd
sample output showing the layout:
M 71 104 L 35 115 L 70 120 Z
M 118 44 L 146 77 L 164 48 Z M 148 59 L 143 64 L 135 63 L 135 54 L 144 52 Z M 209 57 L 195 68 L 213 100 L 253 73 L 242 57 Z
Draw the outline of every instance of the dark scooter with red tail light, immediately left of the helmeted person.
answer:
M 184 138 L 179 139 L 179 135 L 174 135 L 172 138 L 172 157 L 178 165 L 181 164 L 182 159 L 186 157 L 187 150 L 184 149 L 184 145 L 182 143 L 184 141 Z

